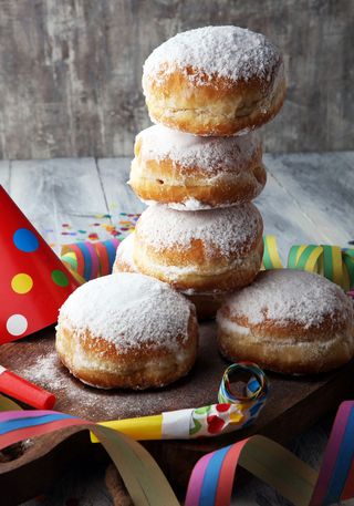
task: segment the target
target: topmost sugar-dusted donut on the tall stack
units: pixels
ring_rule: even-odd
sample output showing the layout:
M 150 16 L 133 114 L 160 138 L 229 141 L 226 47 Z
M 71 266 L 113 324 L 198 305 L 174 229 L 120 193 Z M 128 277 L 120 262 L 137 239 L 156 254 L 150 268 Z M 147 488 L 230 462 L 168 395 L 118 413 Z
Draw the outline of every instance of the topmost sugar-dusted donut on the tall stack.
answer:
M 278 49 L 239 27 L 178 33 L 144 64 L 153 123 L 196 135 L 235 135 L 267 123 L 281 109 L 285 89 Z

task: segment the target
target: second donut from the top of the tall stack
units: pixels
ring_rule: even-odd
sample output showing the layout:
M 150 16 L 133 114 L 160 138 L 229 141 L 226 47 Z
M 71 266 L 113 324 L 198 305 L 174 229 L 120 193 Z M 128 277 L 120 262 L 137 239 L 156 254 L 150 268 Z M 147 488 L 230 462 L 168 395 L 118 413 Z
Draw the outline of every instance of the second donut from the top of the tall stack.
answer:
M 252 200 L 266 179 L 253 133 L 198 137 L 154 125 L 136 137 L 129 184 L 146 204 L 197 210 Z

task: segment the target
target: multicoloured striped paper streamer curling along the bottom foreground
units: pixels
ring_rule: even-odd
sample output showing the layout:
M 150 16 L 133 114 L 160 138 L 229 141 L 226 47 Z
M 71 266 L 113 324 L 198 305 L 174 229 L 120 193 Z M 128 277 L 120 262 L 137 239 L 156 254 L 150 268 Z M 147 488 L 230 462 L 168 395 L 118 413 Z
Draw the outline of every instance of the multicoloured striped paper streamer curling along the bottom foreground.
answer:
M 0 399 L 1 401 L 1 399 Z M 0 450 L 24 438 L 83 426 L 102 442 L 136 505 L 177 505 L 166 478 L 135 441 L 110 427 L 55 411 L 0 413 Z M 354 496 L 354 401 L 337 411 L 320 473 L 273 441 L 256 435 L 202 456 L 191 473 L 185 506 L 227 506 L 241 466 L 295 506 L 329 506 Z

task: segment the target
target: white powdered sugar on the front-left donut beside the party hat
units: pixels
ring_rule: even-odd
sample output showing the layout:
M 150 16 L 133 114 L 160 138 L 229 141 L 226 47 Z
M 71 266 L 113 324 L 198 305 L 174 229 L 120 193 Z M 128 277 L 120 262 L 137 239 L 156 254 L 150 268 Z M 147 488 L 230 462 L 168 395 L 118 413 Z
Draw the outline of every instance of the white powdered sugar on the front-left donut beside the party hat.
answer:
M 77 288 L 60 309 L 59 327 L 114 343 L 119 352 L 148 344 L 178 350 L 188 338 L 191 304 L 169 285 L 139 273 L 114 273 Z M 178 339 L 177 339 L 178 338 Z

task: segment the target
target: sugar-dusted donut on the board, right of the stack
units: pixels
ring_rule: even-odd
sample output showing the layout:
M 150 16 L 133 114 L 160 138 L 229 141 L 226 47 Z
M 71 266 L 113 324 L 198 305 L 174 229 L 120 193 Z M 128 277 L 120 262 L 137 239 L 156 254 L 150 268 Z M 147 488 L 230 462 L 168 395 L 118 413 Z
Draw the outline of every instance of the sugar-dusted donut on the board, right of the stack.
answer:
M 353 301 L 322 276 L 267 270 L 230 296 L 217 314 L 227 359 L 289 374 L 325 372 L 354 354 Z

